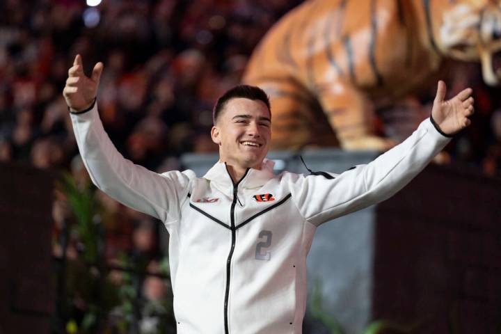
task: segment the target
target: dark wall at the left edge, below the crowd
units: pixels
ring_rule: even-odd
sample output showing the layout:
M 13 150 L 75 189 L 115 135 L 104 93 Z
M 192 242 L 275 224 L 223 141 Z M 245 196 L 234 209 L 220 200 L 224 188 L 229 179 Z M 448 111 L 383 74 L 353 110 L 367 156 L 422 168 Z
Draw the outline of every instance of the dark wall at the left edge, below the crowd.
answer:
M 0 164 L 0 334 L 50 333 L 53 178 Z

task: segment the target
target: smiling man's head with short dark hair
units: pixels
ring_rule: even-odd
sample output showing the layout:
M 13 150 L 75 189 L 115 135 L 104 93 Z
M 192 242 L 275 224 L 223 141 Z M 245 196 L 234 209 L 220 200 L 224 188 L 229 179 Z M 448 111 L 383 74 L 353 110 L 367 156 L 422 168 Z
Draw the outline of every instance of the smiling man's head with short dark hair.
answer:
M 212 141 L 219 145 L 221 161 L 239 168 L 260 168 L 271 138 L 267 105 L 241 97 L 229 100 L 211 135 Z

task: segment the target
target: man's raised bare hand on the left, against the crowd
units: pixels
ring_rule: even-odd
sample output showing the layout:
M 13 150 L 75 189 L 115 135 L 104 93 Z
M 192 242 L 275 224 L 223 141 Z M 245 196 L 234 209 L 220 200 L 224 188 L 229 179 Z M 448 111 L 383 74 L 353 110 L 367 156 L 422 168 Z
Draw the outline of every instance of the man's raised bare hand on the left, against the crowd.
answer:
M 81 56 L 79 54 L 75 56 L 73 66 L 68 70 L 68 79 L 63 89 L 66 104 L 71 109 L 82 111 L 93 104 L 103 68 L 103 63 L 97 63 L 91 76 L 86 77 Z

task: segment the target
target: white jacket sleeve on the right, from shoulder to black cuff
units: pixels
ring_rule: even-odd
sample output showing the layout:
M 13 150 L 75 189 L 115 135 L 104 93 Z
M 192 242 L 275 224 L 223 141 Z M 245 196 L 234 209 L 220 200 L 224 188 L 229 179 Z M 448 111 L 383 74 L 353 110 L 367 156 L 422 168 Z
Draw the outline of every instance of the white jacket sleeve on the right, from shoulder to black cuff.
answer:
M 404 142 L 369 164 L 333 174 L 331 180 L 321 175 L 291 175 L 292 199 L 305 220 L 318 226 L 390 198 L 449 141 L 427 118 Z

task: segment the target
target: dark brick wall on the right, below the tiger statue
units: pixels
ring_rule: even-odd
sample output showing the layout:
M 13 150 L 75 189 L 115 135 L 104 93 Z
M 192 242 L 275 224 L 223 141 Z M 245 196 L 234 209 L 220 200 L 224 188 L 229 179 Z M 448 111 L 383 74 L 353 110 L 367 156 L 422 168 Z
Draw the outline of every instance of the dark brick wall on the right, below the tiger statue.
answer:
M 501 180 L 432 165 L 376 210 L 374 319 L 500 333 Z

